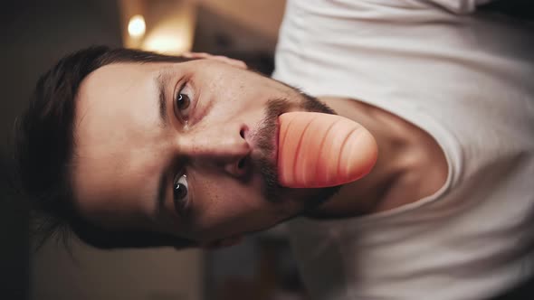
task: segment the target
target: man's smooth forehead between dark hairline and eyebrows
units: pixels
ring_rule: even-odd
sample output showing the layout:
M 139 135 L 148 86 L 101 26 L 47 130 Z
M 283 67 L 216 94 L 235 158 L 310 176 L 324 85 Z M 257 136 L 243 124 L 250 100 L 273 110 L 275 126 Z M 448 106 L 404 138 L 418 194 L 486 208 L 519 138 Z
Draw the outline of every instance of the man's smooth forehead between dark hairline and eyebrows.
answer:
M 129 219 L 149 211 L 157 131 L 155 78 L 170 64 L 111 64 L 92 72 L 77 95 L 73 185 L 91 215 Z

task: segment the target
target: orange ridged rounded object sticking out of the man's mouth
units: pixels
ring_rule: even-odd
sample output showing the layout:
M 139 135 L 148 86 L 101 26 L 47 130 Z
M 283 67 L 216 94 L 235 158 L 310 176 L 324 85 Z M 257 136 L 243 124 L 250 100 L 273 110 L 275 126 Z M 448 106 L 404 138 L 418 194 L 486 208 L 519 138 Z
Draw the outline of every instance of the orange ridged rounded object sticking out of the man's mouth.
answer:
M 315 112 L 279 117 L 279 183 L 320 188 L 356 181 L 377 162 L 375 138 L 358 123 Z

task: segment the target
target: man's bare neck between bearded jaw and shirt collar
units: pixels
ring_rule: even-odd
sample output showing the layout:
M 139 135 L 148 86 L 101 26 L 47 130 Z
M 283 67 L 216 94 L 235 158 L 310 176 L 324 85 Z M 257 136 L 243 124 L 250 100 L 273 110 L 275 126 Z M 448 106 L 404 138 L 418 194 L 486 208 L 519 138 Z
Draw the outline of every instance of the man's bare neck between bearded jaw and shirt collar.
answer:
M 320 98 L 342 117 L 358 122 L 375 137 L 377 164 L 364 178 L 345 184 L 329 202 L 310 213 L 312 218 L 353 217 L 379 211 L 390 191 L 409 171 L 405 154 L 413 146 L 414 126 L 380 108 L 354 99 Z M 398 189 L 395 188 L 397 191 Z

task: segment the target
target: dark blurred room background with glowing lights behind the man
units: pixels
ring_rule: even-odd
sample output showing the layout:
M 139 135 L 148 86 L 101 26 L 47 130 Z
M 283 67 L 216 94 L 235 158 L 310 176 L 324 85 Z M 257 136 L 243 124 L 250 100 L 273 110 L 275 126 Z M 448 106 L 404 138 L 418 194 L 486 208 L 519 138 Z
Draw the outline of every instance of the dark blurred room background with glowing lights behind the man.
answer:
M 284 0 L 3 1 L 0 98 L 0 299 L 305 299 L 283 229 L 215 251 L 30 247 L 11 189 L 14 118 L 63 55 L 94 45 L 179 55 L 210 52 L 269 75 Z

